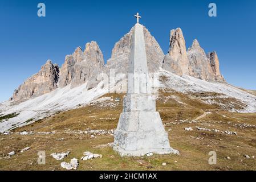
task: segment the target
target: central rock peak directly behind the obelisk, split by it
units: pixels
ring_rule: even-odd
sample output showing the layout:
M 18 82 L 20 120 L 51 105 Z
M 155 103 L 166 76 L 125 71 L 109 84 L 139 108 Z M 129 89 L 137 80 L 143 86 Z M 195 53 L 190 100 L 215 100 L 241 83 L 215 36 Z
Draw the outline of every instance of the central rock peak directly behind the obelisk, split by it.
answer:
M 128 61 L 131 52 L 132 44 L 132 32 L 133 28 L 125 34 L 123 38 L 119 40 L 112 49 L 111 59 L 107 61 L 105 72 L 109 72 L 109 69 L 115 69 L 116 73 L 128 72 Z M 156 39 L 151 35 L 147 28 L 143 27 L 144 38 L 145 38 L 145 48 L 148 61 L 148 71 L 149 73 L 157 72 L 161 67 L 162 59 L 164 58 L 164 53 L 161 47 L 156 42 Z

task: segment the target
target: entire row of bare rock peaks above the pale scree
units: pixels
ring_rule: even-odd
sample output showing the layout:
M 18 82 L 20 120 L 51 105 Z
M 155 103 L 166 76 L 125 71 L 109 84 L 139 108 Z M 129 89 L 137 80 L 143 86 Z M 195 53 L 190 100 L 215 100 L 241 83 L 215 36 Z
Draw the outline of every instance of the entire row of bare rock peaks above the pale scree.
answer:
M 214 51 L 206 55 L 204 49 L 200 47 L 196 39 L 192 47 L 188 48 L 187 51 L 181 28 L 170 31 L 170 47 L 168 53 L 164 55 L 159 43 L 157 43 L 148 29 L 145 26 L 143 27 L 149 72 L 158 72 L 159 68 L 162 67 L 177 75 L 185 74 L 208 81 L 225 81 L 220 73 L 220 63 L 217 53 Z M 58 80 L 53 79 L 50 81 L 56 82 L 56 85 L 52 89 L 47 89 L 44 86 L 44 90 L 38 92 L 36 89 L 39 87 L 38 83 L 33 82 L 31 79 L 33 75 L 25 81 L 29 82 L 29 84 L 26 85 L 25 82 L 21 84 L 19 88 L 14 91 L 13 97 L 11 97 L 10 100 L 28 100 L 51 92 L 51 90 L 56 88 L 67 86 L 68 84 L 71 84 L 71 88 L 75 88 L 87 81 L 89 81 L 87 82 L 88 89 L 91 89 L 100 82 L 97 76 L 103 72 L 109 75 L 109 69 L 115 69 L 116 73 L 124 73 L 127 75 L 132 31 L 133 27 L 115 43 L 111 58 L 107 60 L 106 64 L 104 64 L 103 53 L 99 45 L 92 41 L 86 44 L 84 51 L 82 47 L 77 47 L 72 55 L 65 57 L 62 67 L 58 66 L 58 74 L 53 76 L 58 77 Z M 193 49 L 196 50 L 193 51 Z M 198 52 L 201 52 L 201 54 L 198 55 Z M 43 70 L 41 69 L 38 73 L 40 72 L 43 72 Z M 46 73 L 49 74 L 50 77 L 53 74 L 50 71 Z M 51 87 L 49 84 L 47 86 Z M 26 90 L 29 90 L 30 93 L 26 93 Z

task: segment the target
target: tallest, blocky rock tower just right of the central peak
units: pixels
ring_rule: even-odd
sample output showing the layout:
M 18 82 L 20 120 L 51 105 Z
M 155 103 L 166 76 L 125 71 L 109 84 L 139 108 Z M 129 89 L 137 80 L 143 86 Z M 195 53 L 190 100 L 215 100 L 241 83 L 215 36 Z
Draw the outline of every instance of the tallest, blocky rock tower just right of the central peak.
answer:
M 181 28 L 170 31 L 170 45 L 168 54 L 165 55 L 162 68 L 177 75 L 188 75 L 188 56 L 186 43 Z

